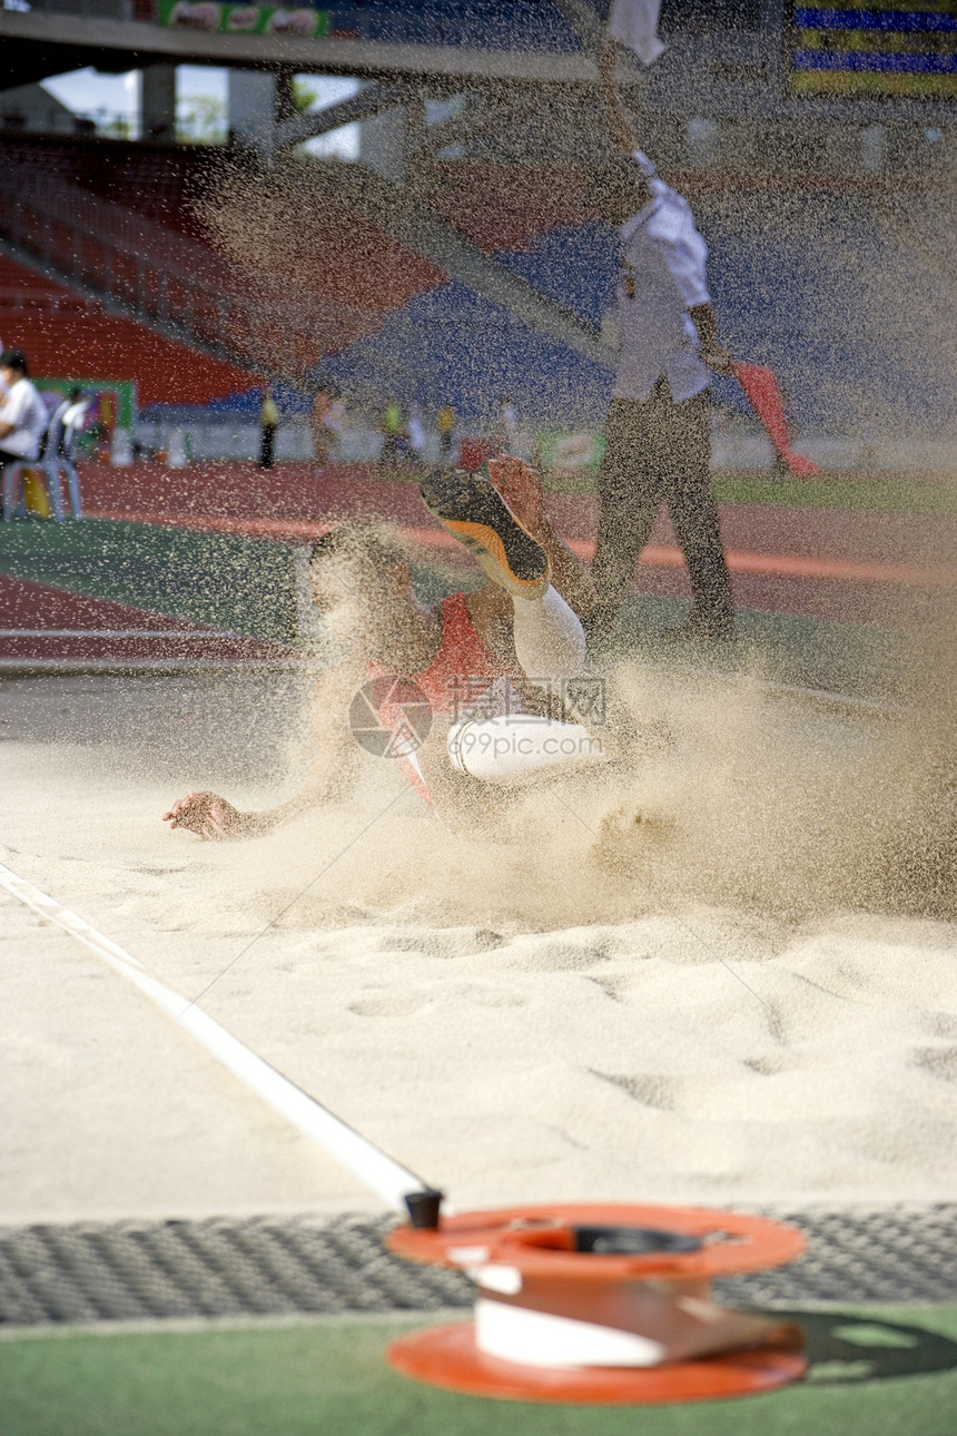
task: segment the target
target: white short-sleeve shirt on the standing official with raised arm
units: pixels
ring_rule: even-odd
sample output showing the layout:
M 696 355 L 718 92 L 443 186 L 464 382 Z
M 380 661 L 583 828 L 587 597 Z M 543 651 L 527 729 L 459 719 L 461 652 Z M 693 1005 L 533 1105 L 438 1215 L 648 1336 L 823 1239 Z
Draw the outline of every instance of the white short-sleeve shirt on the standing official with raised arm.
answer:
M 687 200 L 659 178 L 650 178 L 649 188 L 649 204 L 618 231 L 621 355 L 614 396 L 647 399 L 664 375 L 671 398 L 680 404 L 700 393 L 712 378 L 699 359 L 697 330 L 687 313 L 710 303 L 707 246 L 694 228 Z

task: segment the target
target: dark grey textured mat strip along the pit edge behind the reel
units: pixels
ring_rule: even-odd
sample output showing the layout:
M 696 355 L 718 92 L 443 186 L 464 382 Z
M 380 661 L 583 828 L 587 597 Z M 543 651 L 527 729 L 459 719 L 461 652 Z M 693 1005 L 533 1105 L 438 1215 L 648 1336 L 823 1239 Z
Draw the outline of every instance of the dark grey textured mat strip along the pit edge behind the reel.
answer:
M 719 1284 L 739 1305 L 957 1297 L 957 1205 L 768 1209 L 801 1228 L 791 1267 Z M 458 1272 L 385 1251 L 390 1219 L 76 1222 L 0 1228 L 0 1324 L 435 1311 Z

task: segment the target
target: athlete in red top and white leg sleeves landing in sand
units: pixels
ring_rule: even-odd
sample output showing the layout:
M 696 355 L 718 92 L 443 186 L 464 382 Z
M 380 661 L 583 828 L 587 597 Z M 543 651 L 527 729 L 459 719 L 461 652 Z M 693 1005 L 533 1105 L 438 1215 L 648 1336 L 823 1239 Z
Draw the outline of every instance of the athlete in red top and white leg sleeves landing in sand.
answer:
M 494 811 L 492 784 L 601 755 L 595 735 L 551 712 L 557 681 L 584 665 L 580 616 L 594 603 L 591 580 L 545 516 L 539 475 L 514 458 L 492 460 L 488 470 L 489 478 L 446 470 L 422 490 L 430 513 L 491 579 L 473 593 L 423 606 L 403 550 L 382 528 L 349 524 L 319 540 L 310 589 L 346 656 L 316 689 L 310 787 L 265 813 L 188 793 L 164 814 L 171 827 L 245 837 L 346 796 L 360 760 L 350 702 L 382 675 L 410 678 L 429 704 L 435 721 L 426 741 L 399 761 L 442 816 Z M 492 698 L 498 711 L 489 717 Z M 380 714 L 390 727 L 385 704 Z

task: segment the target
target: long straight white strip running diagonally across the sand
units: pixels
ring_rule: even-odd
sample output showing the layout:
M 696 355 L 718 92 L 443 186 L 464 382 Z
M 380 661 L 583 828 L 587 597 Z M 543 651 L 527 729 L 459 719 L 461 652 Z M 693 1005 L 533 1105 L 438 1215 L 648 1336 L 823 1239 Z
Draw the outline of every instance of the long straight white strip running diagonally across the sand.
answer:
M 422 1178 L 376 1147 L 329 1107 L 323 1107 L 314 1097 L 310 1097 L 301 1087 L 297 1087 L 288 1077 L 258 1057 L 238 1037 L 232 1037 L 224 1027 L 207 1017 L 201 1008 L 174 992 L 172 988 L 151 978 L 132 954 L 3 863 L 0 863 L 0 887 L 13 898 L 19 898 L 40 918 L 63 928 L 72 938 L 109 964 L 115 972 L 139 988 L 151 1002 L 155 1002 L 174 1022 L 185 1028 L 211 1057 L 215 1057 L 297 1132 L 316 1142 L 387 1206 L 407 1216 L 406 1195 L 428 1189 Z

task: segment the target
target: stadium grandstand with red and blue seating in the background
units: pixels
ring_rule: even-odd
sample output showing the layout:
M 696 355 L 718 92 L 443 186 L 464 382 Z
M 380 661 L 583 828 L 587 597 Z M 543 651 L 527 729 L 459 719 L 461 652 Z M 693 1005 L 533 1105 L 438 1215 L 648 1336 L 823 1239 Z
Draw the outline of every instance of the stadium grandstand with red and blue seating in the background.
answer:
M 82 355 L 105 372 L 109 355 L 143 406 L 237 396 L 241 412 L 268 373 L 303 393 L 327 376 L 363 404 L 386 389 L 449 402 L 471 424 L 508 391 L 534 422 L 595 424 L 614 253 L 581 200 L 603 144 L 588 57 L 601 7 L 390 0 L 313 17 L 300 37 L 227 19 L 214 32 L 185 0 L 0 11 L 0 333 L 29 322 L 47 373 Z M 808 95 L 786 20 L 773 0 L 666 3 L 666 52 L 630 76 L 646 146 L 694 204 L 736 348 L 776 362 L 803 426 L 918 439 L 947 419 L 948 316 L 928 300 L 917 332 L 882 277 L 921 293 L 946 280 L 946 227 L 928 214 L 950 182 L 953 73 L 933 92 L 917 75 L 913 93 Z M 85 134 L 79 116 L 57 134 L 59 111 L 43 132 L 29 92 L 90 60 L 141 69 L 141 138 Z M 230 67 L 227 144 L 176 144 L 187 62 Z M 362 88 L 298 113 L 294 73 Z M 343 123 L 354 162 L 308 154 Z M 298 210 L 264 258 L 224 254 L 202 220 L 230 165 L 284 190 L 287 220 Z M 296 276 L 294 304 L 263 273 L 275 267 Z

